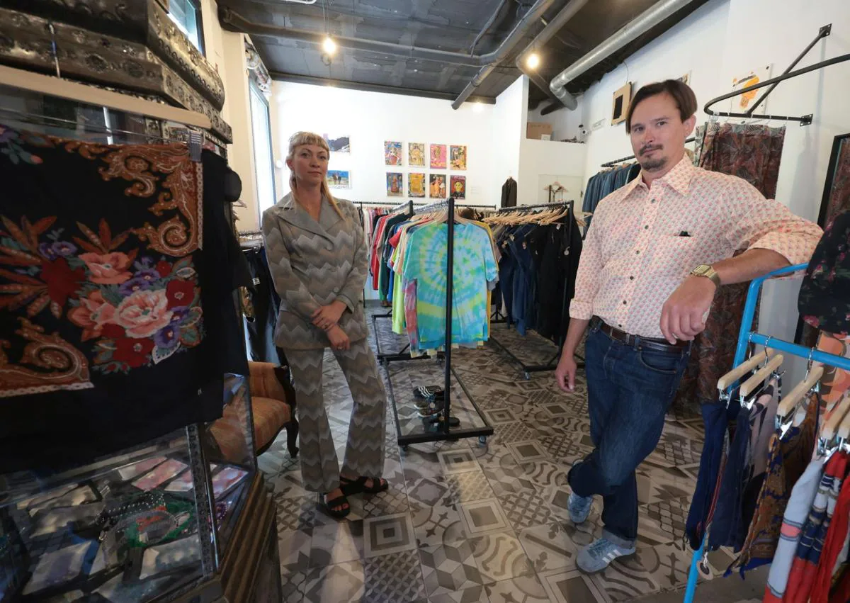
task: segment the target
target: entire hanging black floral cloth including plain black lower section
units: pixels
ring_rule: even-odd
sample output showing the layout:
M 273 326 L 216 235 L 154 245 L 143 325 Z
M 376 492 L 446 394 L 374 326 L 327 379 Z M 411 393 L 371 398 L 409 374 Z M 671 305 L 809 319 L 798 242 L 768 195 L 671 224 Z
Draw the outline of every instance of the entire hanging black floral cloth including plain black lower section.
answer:
M 182 144 L 0 126 L 0 473 L 220 416 L 203 171 Z

